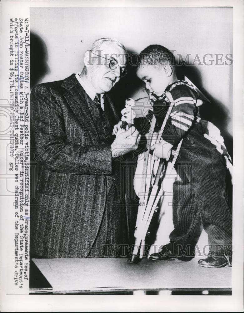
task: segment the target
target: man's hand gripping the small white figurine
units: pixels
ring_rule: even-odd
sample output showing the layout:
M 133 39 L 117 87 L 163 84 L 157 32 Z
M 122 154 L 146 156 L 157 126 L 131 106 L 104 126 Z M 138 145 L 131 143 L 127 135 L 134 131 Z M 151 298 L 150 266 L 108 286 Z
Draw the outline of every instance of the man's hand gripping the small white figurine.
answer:
M 136 150 L 140 139 L 141 135 L 134 126 L 119 134 L 111 145 L 112 157 Z

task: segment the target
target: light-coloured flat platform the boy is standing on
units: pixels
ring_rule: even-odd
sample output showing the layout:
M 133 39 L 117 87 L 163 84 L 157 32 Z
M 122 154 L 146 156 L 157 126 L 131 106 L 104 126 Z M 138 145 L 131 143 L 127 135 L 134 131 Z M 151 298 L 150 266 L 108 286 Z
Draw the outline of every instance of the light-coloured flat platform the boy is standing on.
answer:
M 52 286 L 52 293 L 206 290 L 203 294 L 208 294 L 209 290 L 227 290 L 231 294 L 231 267 L 204 268 L 197 265 L 198 259 L 190 262 L 143 259 L 136 265 L 128 264 L 126 259 L 33 259 L 33 262 Z

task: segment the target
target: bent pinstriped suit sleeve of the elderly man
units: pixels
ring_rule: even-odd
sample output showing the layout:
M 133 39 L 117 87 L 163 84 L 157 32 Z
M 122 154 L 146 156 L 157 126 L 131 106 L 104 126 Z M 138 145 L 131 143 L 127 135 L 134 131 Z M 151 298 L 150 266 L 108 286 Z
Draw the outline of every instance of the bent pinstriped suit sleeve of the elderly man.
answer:
M 45 85 L 37 85 L 31 92 L 31 120 L 37 150 L 49 170 L 70 174 L 112 174 L 111 146 L 82 146 L 67 141 L 62 109 Z

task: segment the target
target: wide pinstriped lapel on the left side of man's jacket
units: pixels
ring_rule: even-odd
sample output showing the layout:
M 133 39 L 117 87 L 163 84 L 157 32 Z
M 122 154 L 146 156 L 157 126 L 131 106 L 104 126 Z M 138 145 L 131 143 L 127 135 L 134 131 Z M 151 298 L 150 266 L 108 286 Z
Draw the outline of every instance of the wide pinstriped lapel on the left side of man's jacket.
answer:
M 64 97 L 67 103 L 70 105 L 79 122 L 88 132 L 91 142 L 93 144 L 99 143 L 97 128 L 86 99 L 88 95 L 77 81 L 75 74 L 65 79 L 62 83 L 62 87 L 65 89 Z

